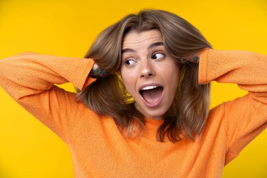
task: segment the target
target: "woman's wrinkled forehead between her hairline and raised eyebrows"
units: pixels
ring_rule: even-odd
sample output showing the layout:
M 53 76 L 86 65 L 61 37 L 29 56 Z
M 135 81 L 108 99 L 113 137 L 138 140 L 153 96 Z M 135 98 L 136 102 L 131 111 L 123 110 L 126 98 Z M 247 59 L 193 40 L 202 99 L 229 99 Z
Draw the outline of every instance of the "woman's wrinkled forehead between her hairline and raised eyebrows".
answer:
M 130 46 L 140 46 L 144 44 L 149 44 L 153 42 L 162 42 L 162 35 L 159 30 L 152 29 L 150 31 L 139 32 L 136 30 L 132 30 L 128 32 L 122 43 L 122 48 L 130 47 Z

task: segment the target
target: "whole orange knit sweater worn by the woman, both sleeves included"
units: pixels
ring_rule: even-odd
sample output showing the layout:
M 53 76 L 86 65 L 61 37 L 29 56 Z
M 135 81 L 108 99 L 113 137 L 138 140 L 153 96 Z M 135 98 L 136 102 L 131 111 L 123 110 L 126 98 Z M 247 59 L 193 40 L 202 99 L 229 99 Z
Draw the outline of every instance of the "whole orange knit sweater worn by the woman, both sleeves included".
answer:
M 267 127 L 267 57 L 246 51 L 205 50 L 199 83 L 238 83 L 248 95 L 210 111 L 201 138 L 156 141 L 162 121 L 147 119 L 140 139 L 122 136 L 112 118 L 75 102 L 93 60 L 22 53 L 0 60 L 0 85 L 27 111 L 60 136 L 72 154 L 75 177 L 220 177 L 224 165 Z

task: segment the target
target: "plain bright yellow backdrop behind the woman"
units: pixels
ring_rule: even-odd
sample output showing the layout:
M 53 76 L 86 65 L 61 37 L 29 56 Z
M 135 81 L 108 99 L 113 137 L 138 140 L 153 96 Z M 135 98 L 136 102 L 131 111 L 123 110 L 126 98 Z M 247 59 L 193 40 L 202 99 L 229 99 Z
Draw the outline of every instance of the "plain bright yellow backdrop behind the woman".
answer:
M 102 29 L 143 8 L 171 11 L 194 24 L 215 49 L 267 55 L 267 1 L 0 0 L 0 58 L 23 51 L 82 57 Z M 213 83 L 212 106 L 243 96 Z M 70 84 L 64 85 L 73 90 Z M 227 165 L 223 177 L 267 177 L 267 130 Z M 0 177 L 74 177 L 65 143 L 0 88 Z

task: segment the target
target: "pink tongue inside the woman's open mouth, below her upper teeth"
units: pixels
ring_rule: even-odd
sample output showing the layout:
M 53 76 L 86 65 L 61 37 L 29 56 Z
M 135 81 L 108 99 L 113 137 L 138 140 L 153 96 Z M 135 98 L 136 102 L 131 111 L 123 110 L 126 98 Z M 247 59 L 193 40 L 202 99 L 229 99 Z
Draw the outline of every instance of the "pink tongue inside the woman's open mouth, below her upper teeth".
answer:
M 144 90 L 142 91 L 142 96 L 146 102 L 154 104 L 160 99 L 162 91 L 163 91 L 162 87 L 157 87 L 150 90 Z

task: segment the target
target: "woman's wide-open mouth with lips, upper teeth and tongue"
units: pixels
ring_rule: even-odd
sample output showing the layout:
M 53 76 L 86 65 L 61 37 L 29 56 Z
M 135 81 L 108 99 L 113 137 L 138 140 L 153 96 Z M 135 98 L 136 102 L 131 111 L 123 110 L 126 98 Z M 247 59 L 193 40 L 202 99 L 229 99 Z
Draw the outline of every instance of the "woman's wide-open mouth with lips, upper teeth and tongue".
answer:
M 162 99 L 163 87 L 162 86 L 145 86 L 139 91 L 145 104 L 150 107 L 155 107 L 160 104 Z

